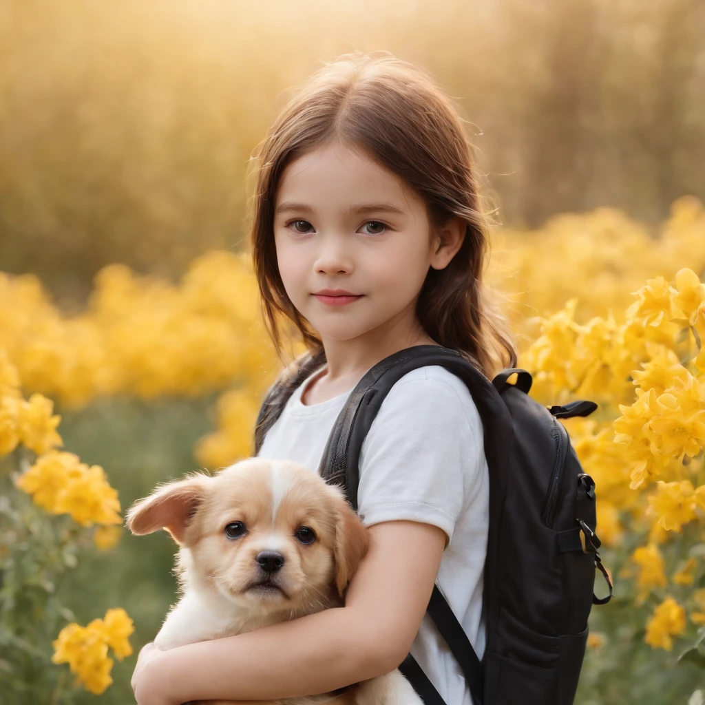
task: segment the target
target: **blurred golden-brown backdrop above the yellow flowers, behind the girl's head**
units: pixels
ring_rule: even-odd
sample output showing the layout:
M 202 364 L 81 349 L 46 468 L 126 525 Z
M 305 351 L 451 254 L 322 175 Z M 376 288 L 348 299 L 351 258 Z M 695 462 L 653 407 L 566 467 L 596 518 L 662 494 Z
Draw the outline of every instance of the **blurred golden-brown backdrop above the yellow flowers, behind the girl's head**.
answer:
M 455 98 L 511 226 L 705 194 L 700 0 L 4 0 L 0 265 L 61 300 L 243 239 L 252 149 L 321 61 L 386 50 Z

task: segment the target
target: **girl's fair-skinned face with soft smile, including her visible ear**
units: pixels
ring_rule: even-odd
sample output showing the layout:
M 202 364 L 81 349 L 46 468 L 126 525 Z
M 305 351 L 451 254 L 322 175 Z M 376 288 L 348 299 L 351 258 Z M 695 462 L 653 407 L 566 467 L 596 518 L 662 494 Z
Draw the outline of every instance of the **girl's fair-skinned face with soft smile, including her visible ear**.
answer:
M 429 266 L 442 269 L 460 247 L 439 247 L 431 233 L 416 192 L 338 142 L 302 155 L 281 176 L 274 213 L 279 272 L 291 302 L 324 341 L 415 327 Z

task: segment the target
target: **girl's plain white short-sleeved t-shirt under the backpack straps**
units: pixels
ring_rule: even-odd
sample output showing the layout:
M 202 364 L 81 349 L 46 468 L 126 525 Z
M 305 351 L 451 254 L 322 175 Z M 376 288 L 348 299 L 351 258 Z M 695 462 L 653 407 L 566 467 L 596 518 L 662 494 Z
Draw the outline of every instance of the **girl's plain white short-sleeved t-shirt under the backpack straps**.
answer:
M 302 391 L 313 376 L 288 400 L 266 434 L 260 457 L 318 470 L 350 391 L 304 405 Z M 405 374 L 393 386 L 362 445 L 357 498 L 364 525 L 412 520 L 446 532 L 436 584 L 482 658 L 489 471 L 482 420 L 462 380 L 434 365 Z M 448 705 L 472 705 L 462 671 L 429 615 L 411 653 Z

